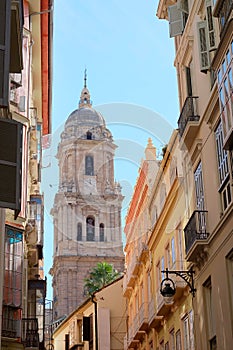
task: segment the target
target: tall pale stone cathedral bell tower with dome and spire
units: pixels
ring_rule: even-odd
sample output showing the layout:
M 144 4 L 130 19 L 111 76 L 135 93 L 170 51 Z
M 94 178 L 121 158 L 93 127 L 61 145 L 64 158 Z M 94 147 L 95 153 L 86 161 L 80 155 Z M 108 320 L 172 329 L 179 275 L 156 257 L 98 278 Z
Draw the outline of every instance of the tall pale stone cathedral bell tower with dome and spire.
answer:
M 84 278 L 98 262 L 124 269 L 123 196 L 114 181 L 116 145 L 103 116 L 92 108 L 86 86 L 68 117 L 58 145 L 59 189 L 54 223 L 54 317 L 72 312 L 86 298 Z

